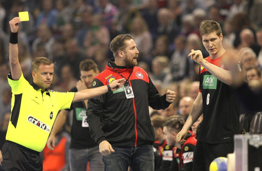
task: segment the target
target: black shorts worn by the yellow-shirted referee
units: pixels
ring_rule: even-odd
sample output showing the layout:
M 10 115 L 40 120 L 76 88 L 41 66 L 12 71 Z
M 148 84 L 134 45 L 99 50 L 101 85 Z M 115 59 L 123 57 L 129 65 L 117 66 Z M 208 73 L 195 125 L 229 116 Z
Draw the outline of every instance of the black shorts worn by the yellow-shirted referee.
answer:
M 43 161 L 38 151 L 31 150 L 12 141 L 2 148 L 3 161 L 0 171 L 42 171 Z

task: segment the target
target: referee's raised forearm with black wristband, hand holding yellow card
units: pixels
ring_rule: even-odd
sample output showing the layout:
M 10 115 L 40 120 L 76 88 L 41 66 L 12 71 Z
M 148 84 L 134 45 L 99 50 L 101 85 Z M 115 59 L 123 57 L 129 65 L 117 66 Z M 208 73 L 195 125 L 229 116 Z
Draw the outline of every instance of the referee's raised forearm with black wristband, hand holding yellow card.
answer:
M 10 33 L 10 44 L 9 44 L 9 62 L 11 67 L 11 74 L 14 80 L 18 80 L 22 75 L 21 66 L 18 60 L 18 23 L 21 23 L 19 17 L 14 17 L 9 21 L 11 33 Z

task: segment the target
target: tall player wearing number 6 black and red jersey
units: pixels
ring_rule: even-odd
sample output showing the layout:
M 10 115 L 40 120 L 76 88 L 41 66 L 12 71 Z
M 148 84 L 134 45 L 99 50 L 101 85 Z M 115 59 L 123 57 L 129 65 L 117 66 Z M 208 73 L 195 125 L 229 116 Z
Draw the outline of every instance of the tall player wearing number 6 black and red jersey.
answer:
M 209 170 L 210 163 L 216 157 L 233 153 L 233 136 L 240 133 L 239 103 L 231 91 L 232 76 L 226 63 L 233 54 L 222 45 L 223 35 L 219 23 L 202 21 L 199 31 L 209 56 L 203 58 L 202 52 L 194 49 L 188 54 L 200 65 L 199 93 L 185 125 L 176 136 L 177 142 L 183 144 L 188 129 L 203 112 L 203 123 L 194 151 L 194 171 Z M 241 72 L 242 63 L 239 61 L 237 65 Z

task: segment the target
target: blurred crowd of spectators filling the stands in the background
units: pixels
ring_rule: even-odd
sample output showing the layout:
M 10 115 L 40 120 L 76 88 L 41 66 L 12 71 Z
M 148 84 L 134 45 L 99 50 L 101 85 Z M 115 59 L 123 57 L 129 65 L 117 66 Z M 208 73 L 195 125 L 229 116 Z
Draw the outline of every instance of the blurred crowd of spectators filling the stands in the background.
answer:
M 58 92 L 69 92 L 76 86 L 81 61 L 92 59 L 101 72 L 114 58 L 109 48 L 112 39 L 119 34 L 133 36 L 139 51 L 137 66 L 148 73 L 160 95 L 167 89 L 176 92 L 175 101 L 167 109 L 149 107 L 156 138 L 155 170 L 168 170 L 174 165 L 172 159 L 179 161 L 179 154 L 185 151 L 169 147 L 179 145 L 168 140 L 163 124 L 173 120 L 179 125 L 175 130 L 178 133 L 199 92 L 200 66 L 188 54 L 194 49 L 202 51 L 203 58 L 209 56 L 199 34 L 200 22 L 214 20 L 220 24 L 225 50 L 242 61 L 243 79 L 257 92 L 262 88 L 261 9 L 262 0 L 0 0 L 0 150 L 11 116 L 8 21 L 18 12 L 29 12 L 29 21 L 19 24 L 18 34 L 23 76 L 31 82 L 33 59 L 50 58 L 56 66 L 50 89 Z M 72 118 L 67 119 L 69 127 L 64 131 L 70 132 Z M 167 130 L 172 122 L 164 125 Z M 196 130 L 194 124 L 190 134 L 196 134 Z

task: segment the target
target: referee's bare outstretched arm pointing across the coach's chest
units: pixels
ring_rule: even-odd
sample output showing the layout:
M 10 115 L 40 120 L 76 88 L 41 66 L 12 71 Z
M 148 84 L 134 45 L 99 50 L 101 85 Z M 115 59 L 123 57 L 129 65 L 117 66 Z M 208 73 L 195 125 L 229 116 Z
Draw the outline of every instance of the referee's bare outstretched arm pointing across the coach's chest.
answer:
M 125 83 L 125 79 L 122 78 L 122 79 L 117 79 L 113 81 L 109 85 L 104 85 L 104 86 L 97 87 L 94 89 L 86 89 L 80 92 L 76 92 L 73 102 L 83 101 L 85 99 L 94 98 L 98 95 L 102 95 L 107 92 L 115 91 L 119 89 L 120 87 L 122 87 L 124 83 Z

